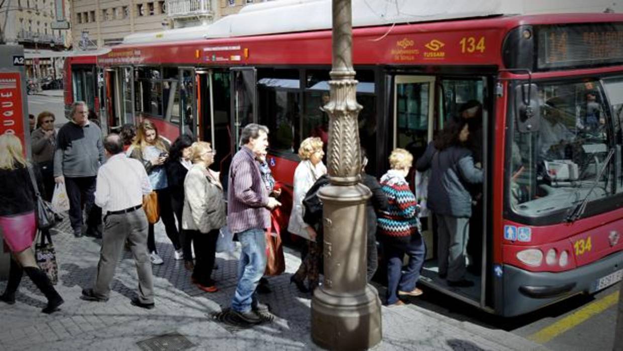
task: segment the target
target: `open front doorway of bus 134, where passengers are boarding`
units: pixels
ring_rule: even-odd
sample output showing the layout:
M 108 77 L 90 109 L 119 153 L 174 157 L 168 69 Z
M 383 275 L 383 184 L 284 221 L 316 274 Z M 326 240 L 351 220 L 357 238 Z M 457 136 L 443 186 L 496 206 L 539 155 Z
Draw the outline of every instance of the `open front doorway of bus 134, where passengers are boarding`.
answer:
M 470 100 L 478 100 L 483 105 L 482 123 L 483 131 L 487 130 L 487 110 L 485 94 L 487 89 L 486 77 L 432 77 L 416 75 L 396 75 L 393 80 L 393 112 L 394 112 L 394 148 L 405 148 L 414 156 L 414 162 L 421 156 L 430 141 L 435 130 L 444 127 L 445 122 L 458 115 L 461 105 Z M 472 132 L 472 131 L 470 131 Z M 483 143 L 487 145 L 487 133 L 482 133 Z M 482 165 L 487 175 L 487 147 L 483 147 Z M 449 294 L 457 299 L 483 309 L 487 309 L 487 218 L 483 213 L 487 211 L 475 211 L 470 219 L 470 235 L 476 249 L 468 251 L 468 257 L 473 257 L 482 262 L 470 264 L 480 269 L 479 272 L 467 273 L 466 279 L 473 281 L 472 287 L 450 287 L 445 279 L 441 279 L 437 272 L 437 225 L 433 214 L 426 209 L 428 172 L 423 174 L 413 172 L 409 175 L 409 183 L 416 194 L 419 203 L 424 210 L 421 214 L 422 238 L 426 243 L 426 259 L 422 268 L 420 281 L 422 284 L 433 287 Z M 479 191 L 482 193 L 481 208 L 487 208 L 487 177 Z M 478 232 L 478 233 L 475 233 Z M 473 245 L 472 245 L 473 247 Z

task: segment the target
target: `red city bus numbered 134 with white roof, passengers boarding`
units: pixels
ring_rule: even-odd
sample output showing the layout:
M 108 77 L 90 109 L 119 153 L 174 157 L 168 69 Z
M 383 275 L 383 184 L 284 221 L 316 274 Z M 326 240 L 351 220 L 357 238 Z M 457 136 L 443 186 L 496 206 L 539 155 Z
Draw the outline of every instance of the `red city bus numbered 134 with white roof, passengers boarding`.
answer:
M 252 32 L 249 12 L 195 32 L 133 35 L 98 56 L 108 123 L 141 114 L 171 140 L 193 133 L 218 150 L 224 176 L 240 129 L 265 124 L 273 174 L 291 190 L 301 140 L 328 135 L 331 31 L 270 32 L 267 20 L 265 34 Z M 477 284 L 437 276 L 427 211 L 421 283 L 513 316 L 621 281 L 623 15 L 468 17 L 353 30 L 369 172 L 383 174 L 396 147 L 417 159 L 464 103 L 482 105 L 474 156 L 485 181 L 468 249 Z M 409 176 L 424 206 L 427 176 Z

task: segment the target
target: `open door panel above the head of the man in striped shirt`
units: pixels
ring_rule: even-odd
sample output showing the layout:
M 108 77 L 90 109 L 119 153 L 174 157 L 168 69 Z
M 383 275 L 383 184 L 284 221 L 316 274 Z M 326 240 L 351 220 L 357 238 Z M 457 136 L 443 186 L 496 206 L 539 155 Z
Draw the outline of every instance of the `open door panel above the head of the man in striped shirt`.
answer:
M 231 81 L 232 132 L 234 149 L 237 150 L 242 128 L 257 121 L 257 70 L 255 67 L 234 67 L 231 69 Z

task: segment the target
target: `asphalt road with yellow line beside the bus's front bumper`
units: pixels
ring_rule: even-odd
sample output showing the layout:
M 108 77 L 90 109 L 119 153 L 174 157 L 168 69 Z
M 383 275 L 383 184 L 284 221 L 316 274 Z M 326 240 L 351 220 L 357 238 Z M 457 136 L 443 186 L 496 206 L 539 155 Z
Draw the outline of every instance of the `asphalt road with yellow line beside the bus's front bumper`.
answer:
M 412 303 L 456 320 L 504 329 L 554 351 L 610 351 L 614 345 L 619 284 L 594 296 L 574 296 L 514 318 L 490 315 L 439 292 L 425 290 Z

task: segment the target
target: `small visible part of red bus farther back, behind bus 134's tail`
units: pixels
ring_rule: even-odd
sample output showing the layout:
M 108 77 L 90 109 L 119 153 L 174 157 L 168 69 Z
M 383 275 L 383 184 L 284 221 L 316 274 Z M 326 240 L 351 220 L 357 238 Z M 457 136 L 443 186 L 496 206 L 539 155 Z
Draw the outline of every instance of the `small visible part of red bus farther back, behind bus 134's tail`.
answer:
M 101 73 L 97 68 L 97 55 L 106 54 L 110 49 L 75 50 L 69 52 L 64 63 L 64 102 L 65 116 L 69 118 L 72 103 L 83 101 L 88 108 L 101 113 L 102 92 Z M 100 120 L 101 122 L 101 120 Z

